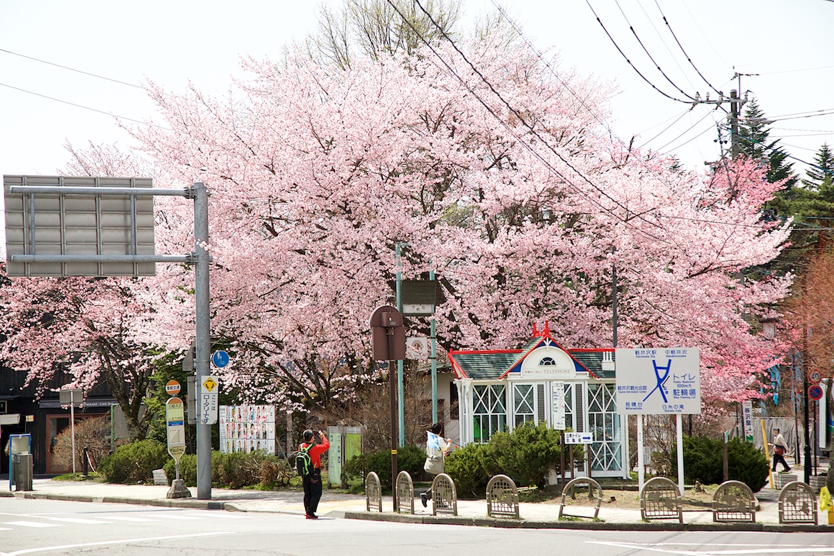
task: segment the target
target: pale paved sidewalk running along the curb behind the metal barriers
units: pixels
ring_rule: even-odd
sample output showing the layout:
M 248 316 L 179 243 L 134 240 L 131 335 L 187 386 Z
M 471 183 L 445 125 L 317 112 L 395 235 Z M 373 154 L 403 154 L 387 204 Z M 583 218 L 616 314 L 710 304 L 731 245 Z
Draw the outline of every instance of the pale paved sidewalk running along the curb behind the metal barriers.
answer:
M 166 498 L 168 487 L 155 485 L 126 485 L 98 483 L 94 481 L 53 481 L 52 479 L 35 479 L 33 491 L 8 492 L 8 483 L 0 485 L 0 496 L 17 496 L 21 498 L 48 498 L 56 500 L 73 500 L 83 502 L 131 503 L 171 508 L 225 509 L 240 512 L 266 512 L 301 515 L 304 513 L 304 493 L 300 491 L 259 491 L 231 490 L 213 488 L 211 500 L 197 498 Z M 196 488 L 189 488 L 193 497 Z M 578 519 L 560 521 L 558 500 L 551 503 L 520 503 L 520 519 L 488 518 L 485 500 L 459 500 L 458 515 L 431 515 L 429 508 L 423 508 L 420 498 L 414 500 L 414 514 L 393 512 L 390 497 L 383 498 L 382 513 L 366 511 L 365 498 L 355 494 L 324 491 L 319 503 L 319 515 L 333 518 L 372 519 L 397 521 L 403 523 L 445 523 L 460 525 L 480 525 L 510 528 L 596 528 L 628 530 L 749 530 L 749 531 L 834 531 L 834 526 L 826 525 L 827 514 L 818 512 L 820 525 L 781 525 L 778 514 L 779 491 L 762 488 L 756 493 L 760 510 L 756 512 L 756 523 L 713 523 L 710 508 L 699 511 L 685 511 L 684 523 L 666 519 L 651 521 L 641 520 L 639 509 L 606 507 L 605 500 L 611 495 L 635 496 L 636 491 L 605 490 L 600 506 L 599 521 Z M 570 513 L 592 516 L 593 508 L 573 506 Z

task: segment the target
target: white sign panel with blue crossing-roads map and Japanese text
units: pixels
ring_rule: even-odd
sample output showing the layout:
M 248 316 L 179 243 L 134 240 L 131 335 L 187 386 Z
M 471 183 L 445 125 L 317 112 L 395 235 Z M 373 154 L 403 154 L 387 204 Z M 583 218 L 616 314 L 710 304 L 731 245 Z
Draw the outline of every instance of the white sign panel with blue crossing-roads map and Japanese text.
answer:
M 620 413 L 701 413 L 698 348 L 617 348 L 616 373 Z

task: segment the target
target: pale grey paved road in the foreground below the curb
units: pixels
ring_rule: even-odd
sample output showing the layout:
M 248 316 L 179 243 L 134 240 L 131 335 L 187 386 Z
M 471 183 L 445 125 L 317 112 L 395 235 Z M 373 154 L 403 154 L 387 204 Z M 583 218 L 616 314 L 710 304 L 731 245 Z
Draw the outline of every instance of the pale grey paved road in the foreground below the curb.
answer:
M 314 521 L 276 513 L 0 498 L 0 556 L 426 553 L 834 556 L 834 534 L 505 529 L 334 518 Z

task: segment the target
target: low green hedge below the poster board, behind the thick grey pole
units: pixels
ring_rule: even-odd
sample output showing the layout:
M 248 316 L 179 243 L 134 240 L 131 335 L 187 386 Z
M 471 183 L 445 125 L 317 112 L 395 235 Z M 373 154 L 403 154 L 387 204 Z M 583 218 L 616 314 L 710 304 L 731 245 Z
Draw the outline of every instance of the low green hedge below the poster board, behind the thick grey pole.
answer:
M 292 472 L 284 458 L 265 452 L 211 453 L 212 486 L 242 488 L 260 485 L 276 488 L 289 485 Z M 173 479 L 176 470 L 173 459 L 165 464 L 165 474 Z M 179 477 L 189 487 L 197 485 L 197 457 L 183 454 L 179 459 Z

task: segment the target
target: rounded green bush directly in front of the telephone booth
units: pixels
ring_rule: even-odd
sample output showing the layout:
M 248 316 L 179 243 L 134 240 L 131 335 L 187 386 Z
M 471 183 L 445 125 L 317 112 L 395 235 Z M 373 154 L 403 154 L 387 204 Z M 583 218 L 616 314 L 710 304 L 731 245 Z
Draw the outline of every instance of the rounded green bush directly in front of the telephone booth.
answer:
M 560 431 L 545 423 L 527 423 L 512 433 L 495 433 L 485 444 L 482 465 L 490 476 L 503 473 L 519 486 L 545 488 L 550 469 L 560 468 Z M 581 449 L 574 450 L 576 464 L 584 461 Z

